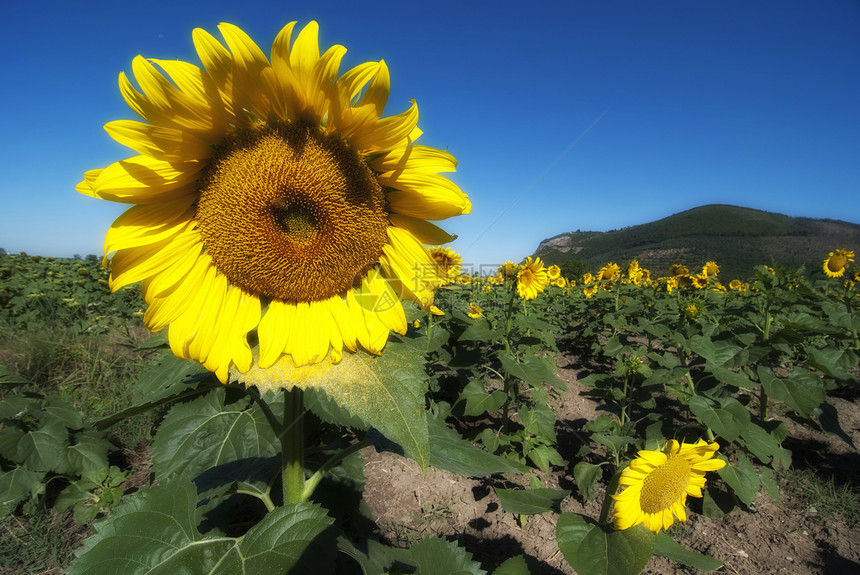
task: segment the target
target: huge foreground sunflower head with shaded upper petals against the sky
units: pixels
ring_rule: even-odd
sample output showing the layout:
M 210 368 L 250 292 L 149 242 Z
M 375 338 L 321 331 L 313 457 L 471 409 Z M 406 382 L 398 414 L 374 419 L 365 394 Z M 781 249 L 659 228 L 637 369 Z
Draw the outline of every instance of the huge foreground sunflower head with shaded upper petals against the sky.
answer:
M 468 213 L 438 172 L 447 152 L 419 146 L 418 109 L 383 117 L 389 74 L 340 74 L 346 48 L 320 54 L 311 22 L 275 38 L 271 60 L 239 28 L 192 38 L 203 67 L 132 62 L 120 91 L 143 122 L 105 126 L 138 154 L 91 170 L 77 190 L 134 204 L 105 239 L 110 287 L 143 281 L 144 323 L 226 382 L 284 356 L 337 362 L 381 353 L 404 333 L 398 296 L 432 305 L 444 273 L 424 244 L 452 236 L 427 220 Z

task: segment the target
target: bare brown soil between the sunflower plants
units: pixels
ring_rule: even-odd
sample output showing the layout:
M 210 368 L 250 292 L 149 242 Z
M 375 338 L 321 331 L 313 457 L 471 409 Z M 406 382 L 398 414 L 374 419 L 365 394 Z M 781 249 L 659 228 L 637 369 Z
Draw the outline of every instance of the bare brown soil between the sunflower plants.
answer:
M 559 358 L 556 375 L 567 391 L 553 405 L 558 418 L 558 450 L 567 466 L 552 474 L 540 474 L 545 487 L 569 489 L 563 512 L 593 518 L 599 516 L 603 492 L 593 502 L 578 499 L 573 466 L 587 435 L 584 424 L 595 417 L 598 404 L 581 395 L 577 383 L 582 367 Z M 831 398 L 839 412 L 842 429 L 860 446 L 860 406 L 856 401 Z M 860 454 L 842 439 L 789 422 L 784 446 L 793 451 L 793 465 L 842 477 L 857 485 Z M 392 453 L 373 448 L 362 451 L 366 460 L 365 501 L 370 506 L 380 536 L 392 545 L 407 546 L 431 535 L 456 540 L 483 568 L 492 572 L 505 559 L 525 553 L 538 559 L 544 575 L 574 573 L 558 550 L 553 513 L 528 516 L 519 524 L 505 513 L 493 492 L 500 478 L 472 479 L 430 468 L 422 474 L 418 465 Z M 729 515 L 712 519 L 688 513 L 670 535 L 700 553 L 724 562 L 716 573 L 860 573 L 860 526 L 849 527 L 842 519 L 819 516 L 780 481 L 777 503 L 763 491 L 748 509 L 735 508 Z M 507 485 L 510 486 L 510 485 Z M 605 487 L 605 482 L 603 482 Z M 695 510 L 697 500 L 689 499 Z M 653 557 L 644 573 L 694 573 L 668 559 Z

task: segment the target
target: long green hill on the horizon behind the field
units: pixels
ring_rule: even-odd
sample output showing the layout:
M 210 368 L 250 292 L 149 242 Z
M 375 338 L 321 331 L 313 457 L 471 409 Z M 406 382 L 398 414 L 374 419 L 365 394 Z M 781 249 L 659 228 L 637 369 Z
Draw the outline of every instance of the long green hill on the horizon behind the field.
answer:
M 860 254 L 860 225 L 712 204 L 621 230 L 560 234 L 542 241 L 534 255 L 547 265 L 578 260 L 592 270 L 637 259 L 653 277 L 674 263 L 694 270 L 713 260 L 720 276 L 731 279 L 772 261 L 812 272 L 837 248 Z

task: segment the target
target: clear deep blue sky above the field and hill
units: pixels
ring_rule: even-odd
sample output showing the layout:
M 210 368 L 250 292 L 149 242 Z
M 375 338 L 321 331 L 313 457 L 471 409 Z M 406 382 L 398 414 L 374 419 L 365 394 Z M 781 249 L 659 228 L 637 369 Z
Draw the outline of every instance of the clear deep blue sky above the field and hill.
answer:
M 706 203 L 860 223 L 857 1 L 2 0 L 0 247 L 101 253 L 124 208 L 74 186 L 134 154 L 102 126 L 135 119 L 135 55 L 199 64 L 191 30 L 225 21 L 268 52 L 312 19 L 342 71 L 384 58 L 386 113 L 415 98 L 458 158 L 473 212 L 443 225 L 467 262 Z

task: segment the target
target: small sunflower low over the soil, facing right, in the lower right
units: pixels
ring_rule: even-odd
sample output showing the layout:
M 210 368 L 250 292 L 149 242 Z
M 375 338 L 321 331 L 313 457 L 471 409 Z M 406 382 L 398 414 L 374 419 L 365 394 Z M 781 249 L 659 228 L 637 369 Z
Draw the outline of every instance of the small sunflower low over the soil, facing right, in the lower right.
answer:
M 699 440 L 678 443 L 669 440 L 662 451 L 640 451 L 622 472 L 625 486 L 615 499 L 616 529 L 644 524 L 654 533 L 675 522 L 687 520 L 687 496 L 701 497 L 705 473 L 722 469 L 726 462 L 712 459 L 720 446 Z

